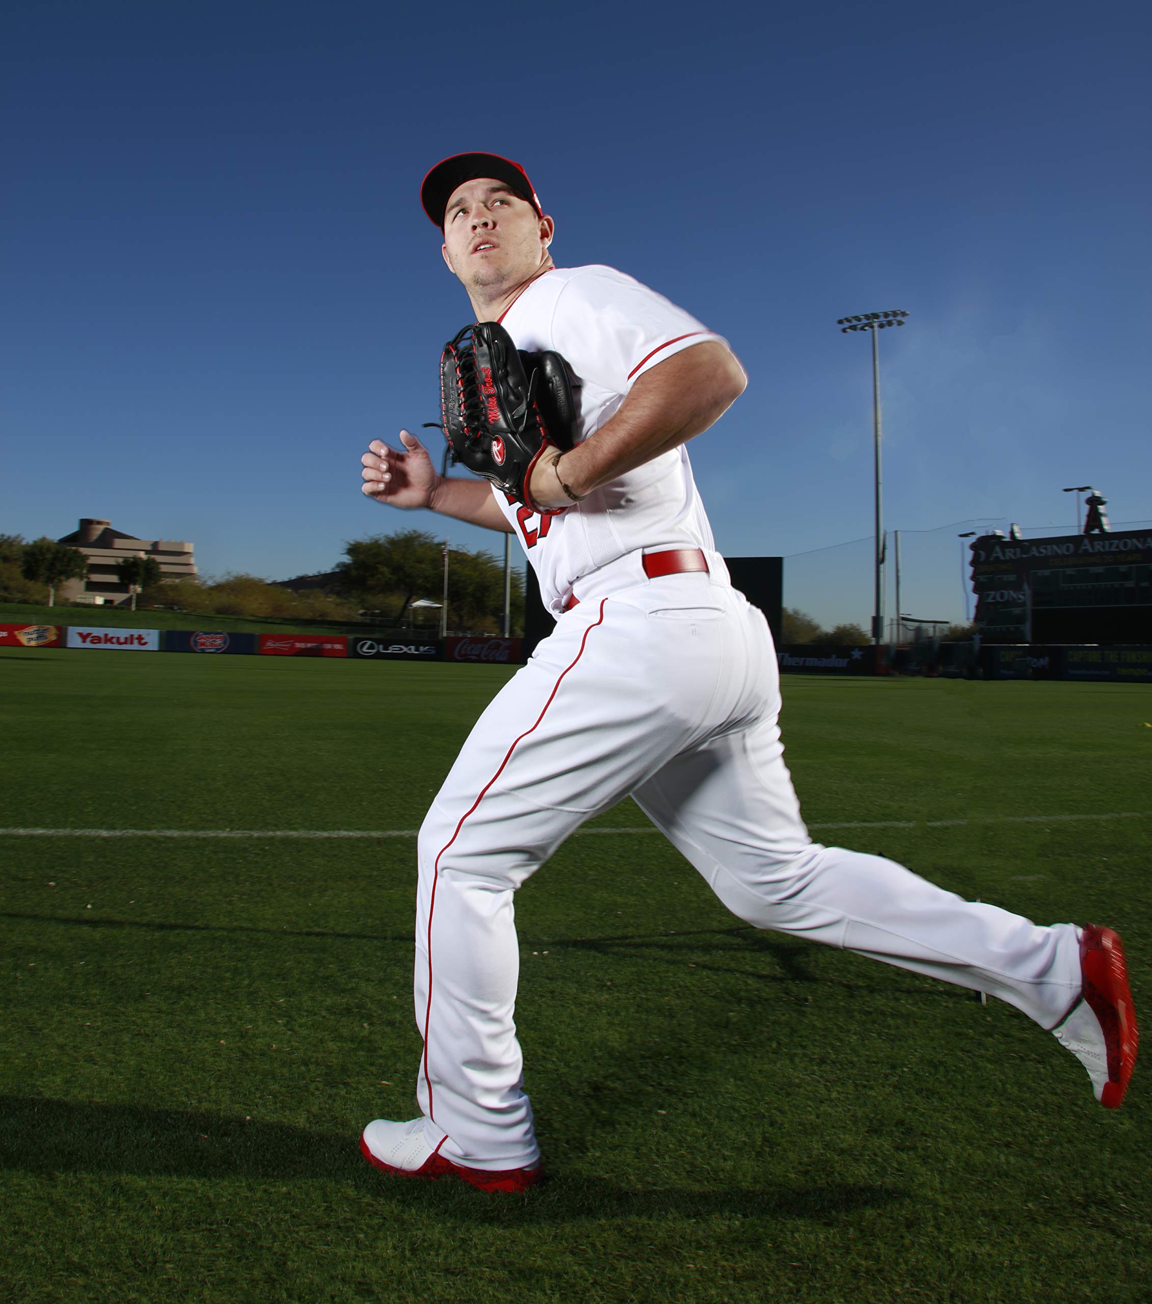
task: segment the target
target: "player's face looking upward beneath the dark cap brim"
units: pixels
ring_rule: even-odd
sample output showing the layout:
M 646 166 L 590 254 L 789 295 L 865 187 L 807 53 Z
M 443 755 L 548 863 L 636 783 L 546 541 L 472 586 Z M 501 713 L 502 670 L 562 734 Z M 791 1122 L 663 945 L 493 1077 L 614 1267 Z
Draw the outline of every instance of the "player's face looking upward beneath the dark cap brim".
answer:
M 457 186 L 444 214 L 444 261 L 468 289 L 514 286 L 548 256 L 552 218 L 502 181 L 477 177 Z

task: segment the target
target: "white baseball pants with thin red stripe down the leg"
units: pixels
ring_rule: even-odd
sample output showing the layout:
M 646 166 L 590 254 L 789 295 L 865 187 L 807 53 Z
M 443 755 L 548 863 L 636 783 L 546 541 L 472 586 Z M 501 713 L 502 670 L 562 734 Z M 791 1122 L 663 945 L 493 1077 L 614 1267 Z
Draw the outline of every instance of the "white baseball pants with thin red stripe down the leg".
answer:
M 813 842 L 784 765 L 767 623 L 711 574 L 590 576 L 477 721 L 419 840 L 417 1095 L 431 1145 L 536 1163 L 513 1011 L 513 893 L 629 793 L 716 896 L 795 934 L 1016 1005 L 1044 1028 L 1080 991 L 1076 931 L 971 904 L 877 855 Z

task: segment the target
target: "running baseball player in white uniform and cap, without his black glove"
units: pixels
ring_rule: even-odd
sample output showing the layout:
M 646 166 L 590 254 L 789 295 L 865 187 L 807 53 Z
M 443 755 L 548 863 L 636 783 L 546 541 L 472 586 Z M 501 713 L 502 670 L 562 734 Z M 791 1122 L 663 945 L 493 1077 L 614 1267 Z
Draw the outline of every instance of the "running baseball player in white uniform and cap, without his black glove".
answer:
M 361 458 L 377 502 L 515 535 L 556 617 L 420 829 L 420 1116 L 369 1123 L 364 1157 L 485 1191 L 539 1180 L 513 1022 L 513 896 L 629 794 L 741 919 L 992 992 L 1053 1030 L 1096 1098 L 1118 1106 L 1136 1021 L 1115 932 L 1038 927 L 809 837 L 784 765 L 771 635 L 729 583 L 685 449 L 745 387 L 727 343 L 612 267 L 556 267 L 552 218 L 509 159 L 446 159 L 421 201 L 476 321 L 566 360 L 578 421 L 570 451 L 532 462 L 522 501 L 441 477 L 407 430 L 402 449 L 374 439 Z

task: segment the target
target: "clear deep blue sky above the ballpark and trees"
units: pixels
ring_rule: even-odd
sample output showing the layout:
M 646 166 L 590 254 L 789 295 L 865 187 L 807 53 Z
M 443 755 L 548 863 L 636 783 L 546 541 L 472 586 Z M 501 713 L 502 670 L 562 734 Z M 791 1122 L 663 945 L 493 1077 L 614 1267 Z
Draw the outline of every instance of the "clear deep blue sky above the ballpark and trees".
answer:
M 963 613 L 975 518 L 1152 518 L 1152 10 L 1143 3 L 416 9 L 8 0 L 0 18 L 0 531 L 107 516 L 204 572 L 330 569 L 404 527 L 374 437 L 436 419 L 468 318 L 417 188 L 521 160 L 553 253 L 731 340 L 745 396 L 691 445 L 718 544 L 866 618 L 872 376 L 904 606 Z M 436 434 L 437 432 L 429 432 Z M 915 533 L 920 532 L 920 533 Z M 913 578 L 915 576 L 915 578 Z

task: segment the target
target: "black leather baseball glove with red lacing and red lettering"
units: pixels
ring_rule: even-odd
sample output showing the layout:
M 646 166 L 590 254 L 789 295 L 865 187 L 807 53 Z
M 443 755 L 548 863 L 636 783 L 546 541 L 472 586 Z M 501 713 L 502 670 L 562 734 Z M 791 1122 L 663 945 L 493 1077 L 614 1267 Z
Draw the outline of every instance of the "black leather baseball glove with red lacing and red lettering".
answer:
M 477 322 L 444 346 L 444 434 L 463 462 L 531 511 L 528 477 L 545 449 L 573 446 L 577 409 L 560 353 L 521 352 L 500 322 Z

